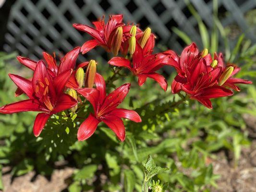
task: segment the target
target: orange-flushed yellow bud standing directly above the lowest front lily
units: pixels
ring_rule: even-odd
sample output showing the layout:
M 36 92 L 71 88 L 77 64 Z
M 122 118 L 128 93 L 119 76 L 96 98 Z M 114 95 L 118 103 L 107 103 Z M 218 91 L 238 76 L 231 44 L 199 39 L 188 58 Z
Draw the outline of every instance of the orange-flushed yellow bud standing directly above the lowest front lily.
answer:
M 97 71 L 97 63 L 95 60 L 90 60 L 85 72 L 85 87 L 92 88 L 95 82 Z

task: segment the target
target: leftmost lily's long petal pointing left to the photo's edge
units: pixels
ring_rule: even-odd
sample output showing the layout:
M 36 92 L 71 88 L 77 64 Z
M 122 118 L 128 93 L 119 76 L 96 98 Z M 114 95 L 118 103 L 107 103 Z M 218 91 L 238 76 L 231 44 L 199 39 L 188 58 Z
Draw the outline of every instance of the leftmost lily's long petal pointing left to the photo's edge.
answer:
M 27 99 L 27 100 L 4 105 L 3 107 L 0 108 L 0 113 L 12 114 L 12 113 L 19 113 L 23 111 L 43 111 L 43 110 L 44 109 L 40 108 L 40 105 L 37 102 L 37 100 Z

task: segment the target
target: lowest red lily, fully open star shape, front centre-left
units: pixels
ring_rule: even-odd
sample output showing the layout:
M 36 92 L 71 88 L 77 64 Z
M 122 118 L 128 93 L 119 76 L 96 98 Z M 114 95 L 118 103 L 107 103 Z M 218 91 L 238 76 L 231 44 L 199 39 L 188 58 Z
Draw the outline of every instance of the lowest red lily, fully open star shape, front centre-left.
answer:
M 128 94 L 130 84 L 123 84 L 108 96 L 106 96 L 105 81 L 98 73 L 95 84 L 97 89 L 83 88 L 77 90 L 78 93 L 85 96 L 94 108 L 94 114 L 90 113 L 89 117 L 80 125 L 77 132 L 78 140 L 83 141 L 89 138 L 95 132 L 98 123 L 103 121 L 121 141 L 124 141 L 125 128 L 121 118 L 141 122 L 140 116 L 134 110 L 116 108 Z

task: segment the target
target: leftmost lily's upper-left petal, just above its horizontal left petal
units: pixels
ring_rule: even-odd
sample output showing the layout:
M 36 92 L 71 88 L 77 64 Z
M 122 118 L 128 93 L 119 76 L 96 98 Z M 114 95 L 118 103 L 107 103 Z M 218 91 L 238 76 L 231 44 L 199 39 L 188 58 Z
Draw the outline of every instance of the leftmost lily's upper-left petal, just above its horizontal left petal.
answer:
M 32 88 L 32 82 L 28 79 L 25 79 L 24 77 L 21 77 L 19 75 L 9 74 L 9 77 L 12 79 L 14 84 L 17 85 L 17 87 L 24 92 L 29 98 L 34 98 L 33 96 L 33 88 Z

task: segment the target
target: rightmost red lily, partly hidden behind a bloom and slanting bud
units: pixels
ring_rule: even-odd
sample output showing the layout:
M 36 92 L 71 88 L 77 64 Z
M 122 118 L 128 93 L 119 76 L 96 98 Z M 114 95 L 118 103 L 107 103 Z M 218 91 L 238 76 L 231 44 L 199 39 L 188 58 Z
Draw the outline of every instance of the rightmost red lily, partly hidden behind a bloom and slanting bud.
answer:
M 244 79 L 239 79 L 239 78 L 234 78 L 233 75 L 235 75 L 236 73 L 238 73 L 241 68 L 237 67 L 235 64 L 225 64 L 223 57 L 222 57 L 222 53 L 219 53 L 219 55 L 217 53 L 214 54 L 214 59 L 218 61 L 218 65 L 219 67 L 221 67 L 221 72 L 225 72 L 225 70 L 227 69 L 227 67 L 231 66 L 234 67 L 234 70 L 231 74 L 231 76 L 226 80 L 226 82 L 222 85 L 222 86 L 226 86 L 226 87 L 230 87 L 233 90 L 236 91 L 240 91 L 240 88 L 236 85 L 236 84 L 252 84 L 253 82 L 248 81 L 248 80 L 244 80 Z

